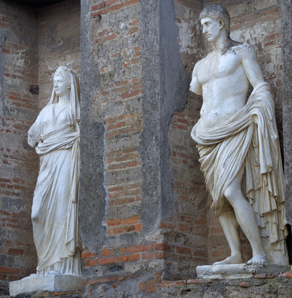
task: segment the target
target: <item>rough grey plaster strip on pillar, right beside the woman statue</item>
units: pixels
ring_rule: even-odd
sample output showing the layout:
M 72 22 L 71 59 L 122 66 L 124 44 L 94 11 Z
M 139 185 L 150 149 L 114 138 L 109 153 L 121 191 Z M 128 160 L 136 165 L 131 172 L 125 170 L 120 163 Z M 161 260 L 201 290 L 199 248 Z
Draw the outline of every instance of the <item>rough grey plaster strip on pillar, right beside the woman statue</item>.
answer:
M 92 54 L 91 1 L 81 5 L 81 76 L 80 84 L 80 209 L 79 225 L 82 244 L 97 252 L 104 243 L 107 193 L 104 175 L 104 121 L 93 118 L 93 95 L 99 86 L 99 71 Z M 88 237 L 91 235 L 91 237 Z

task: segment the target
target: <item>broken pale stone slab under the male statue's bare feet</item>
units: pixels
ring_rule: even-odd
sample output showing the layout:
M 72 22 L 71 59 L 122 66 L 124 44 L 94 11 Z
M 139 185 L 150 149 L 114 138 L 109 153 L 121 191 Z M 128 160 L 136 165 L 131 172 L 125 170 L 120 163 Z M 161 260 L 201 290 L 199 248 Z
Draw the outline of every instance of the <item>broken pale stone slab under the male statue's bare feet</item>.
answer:
M 196 271 L 199 278 L 205 279 L 237 279 L 249 278 L 254 274 L 271 274 L 277 272 L 290 272 L 291 265 L 278 264 L 234 264 L 234 265 L 211 265 L 197 266 Z

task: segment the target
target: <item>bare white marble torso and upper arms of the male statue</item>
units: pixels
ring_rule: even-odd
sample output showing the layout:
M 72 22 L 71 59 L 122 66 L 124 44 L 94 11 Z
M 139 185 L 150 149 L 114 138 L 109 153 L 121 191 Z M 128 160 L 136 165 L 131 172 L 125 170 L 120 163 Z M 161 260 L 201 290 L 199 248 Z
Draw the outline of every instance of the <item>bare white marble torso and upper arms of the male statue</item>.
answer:
M 206 127 L 224 122 L 244 107 L 250 81 L 253 87 L 264 81 L 252 46 L 227 42 L 224 51 L 213 50 L 193 69 L 190 90 L 203 96 L 200 114 Z M 245 69 L 252 64 L 254 72 Z

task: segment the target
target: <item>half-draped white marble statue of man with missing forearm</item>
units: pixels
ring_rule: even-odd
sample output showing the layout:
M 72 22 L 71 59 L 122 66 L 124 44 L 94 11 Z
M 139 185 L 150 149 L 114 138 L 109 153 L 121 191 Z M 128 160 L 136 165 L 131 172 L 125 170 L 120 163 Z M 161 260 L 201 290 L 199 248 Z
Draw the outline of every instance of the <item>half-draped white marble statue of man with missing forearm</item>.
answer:
M 190 90 L 203 96 L 203 105 L 191 136 L 211 208 L 231 249 L 231 256 L 214 265 L 245 263 L 239 227 L 252 247 L 248 264 L 287 264 L 284 177 L 271 86 L 254 48 L 229 37 L 224 7 L 205 7 L 200 21 L 213 49 L 193 69 Z M 246 102 L 250 84 L 253 92 Z

